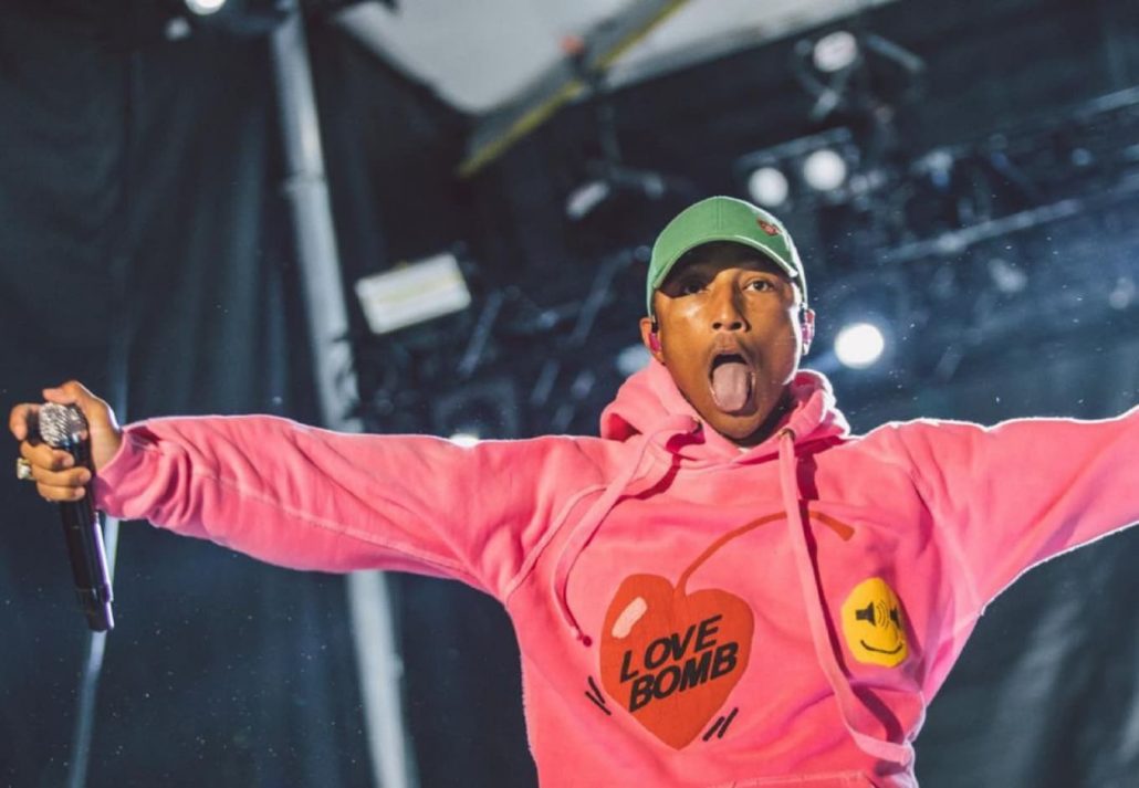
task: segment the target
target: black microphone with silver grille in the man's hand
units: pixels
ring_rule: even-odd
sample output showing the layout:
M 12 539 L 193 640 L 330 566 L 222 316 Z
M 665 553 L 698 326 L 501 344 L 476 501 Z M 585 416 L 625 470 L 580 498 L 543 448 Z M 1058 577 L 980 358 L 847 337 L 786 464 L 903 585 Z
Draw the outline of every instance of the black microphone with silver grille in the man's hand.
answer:
M 75 467 L 91 467 L 91 450 L 88 441 L 87 419 L 75 405 L 48 403 L 40 407 L 38 419 L 40 437 L 52 449 L 62 449 L 75 458 Z M 80 607 L 87 616 L 87 625 L 95 632 L 114 629 L 115 618 L 110 614 L 110 578 L 107 574 L 107 551 L 103 547 L 103 528 L 91 504 L 91 485 L 84 487 L 87 494 L 79 501 L 63 501 L 59 515 L 64 524 L 67 557 L 71 559 L 72 577 Z

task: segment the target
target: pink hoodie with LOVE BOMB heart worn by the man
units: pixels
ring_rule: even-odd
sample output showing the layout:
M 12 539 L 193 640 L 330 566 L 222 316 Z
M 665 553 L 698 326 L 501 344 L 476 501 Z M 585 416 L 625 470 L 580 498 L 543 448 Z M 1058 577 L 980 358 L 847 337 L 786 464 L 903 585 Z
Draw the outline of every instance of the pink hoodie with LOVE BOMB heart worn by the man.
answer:
M 493 594 L 543 786 L 913 786 L 910 742 L 984 606 L 1139 519 L 1139 410 L 853 437 L 820 375 L 793 393 L 747 451 L 658 364 L 601 438 L 155 419 L 96 496 L 285 566 Z

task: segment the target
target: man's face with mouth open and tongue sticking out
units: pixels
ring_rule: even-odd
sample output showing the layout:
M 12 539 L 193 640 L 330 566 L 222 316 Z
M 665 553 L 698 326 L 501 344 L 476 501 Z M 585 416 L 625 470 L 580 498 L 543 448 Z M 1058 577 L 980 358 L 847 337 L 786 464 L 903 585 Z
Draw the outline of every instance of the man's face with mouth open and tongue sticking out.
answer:
M 658 344 L 648 318 L 641 337 L 685 399 L 734 443 L 762 442 L 813 334 L 792 280 L 762 253 L 716 241 L 685 255 L 653 298 Z

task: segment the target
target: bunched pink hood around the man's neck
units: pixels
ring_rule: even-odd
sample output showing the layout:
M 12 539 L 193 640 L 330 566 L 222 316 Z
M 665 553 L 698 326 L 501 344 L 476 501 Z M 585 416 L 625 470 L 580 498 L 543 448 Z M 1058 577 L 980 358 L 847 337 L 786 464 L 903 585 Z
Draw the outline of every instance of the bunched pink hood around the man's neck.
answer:
M 708 461 L 760 460 L 778 453 L 777 435 L 789 429 L 795 443 L 845 437 L 850 434 L 846 418 L 835 407 L 830 381 L 821 372 L 800 370 L 790 383 L 794 407 L 790 413 L 772 430 L 771 437 L 757 446 L 741 452 L 739 448 L 715 430 L 700 430 L 702 441 L 677 449 L 688 459 Z M 617 391 L 616 399 L 601 413 L 601 437 L 628 441 L 637 435 L 649 435 L 667 419 L 688 417 L 703 422 L 696 410 L 677 388 L 669 370 L 658 361 L 631 376 Z

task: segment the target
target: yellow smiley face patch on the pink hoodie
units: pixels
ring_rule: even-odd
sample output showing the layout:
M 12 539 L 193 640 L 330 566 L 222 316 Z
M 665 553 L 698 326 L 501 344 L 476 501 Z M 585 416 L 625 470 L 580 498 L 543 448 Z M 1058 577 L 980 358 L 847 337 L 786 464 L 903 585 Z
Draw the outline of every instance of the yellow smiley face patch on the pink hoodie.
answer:
M 865 665 L 893 667 L 910 649 L 898 594 L 882 577 L 868 577 L 843 602 L 843 634 L 854 658 Z

